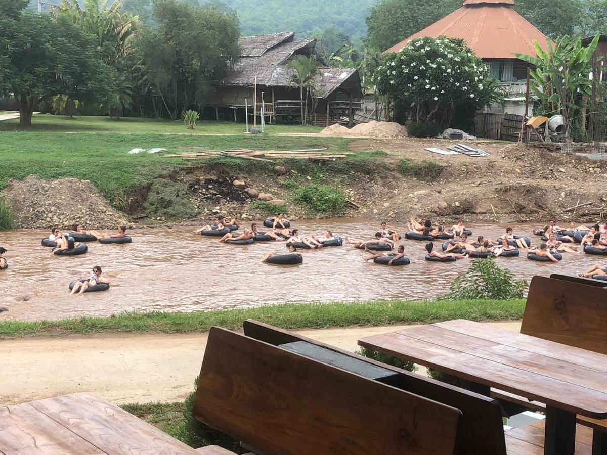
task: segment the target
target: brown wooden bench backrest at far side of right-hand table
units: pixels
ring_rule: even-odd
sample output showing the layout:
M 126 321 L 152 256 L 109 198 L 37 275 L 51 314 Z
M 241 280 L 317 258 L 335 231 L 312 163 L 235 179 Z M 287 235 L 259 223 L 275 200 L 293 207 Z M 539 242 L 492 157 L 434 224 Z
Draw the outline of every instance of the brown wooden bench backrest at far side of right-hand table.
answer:
M 607 289 L 533 277 L 521 333 L 607 354 Z

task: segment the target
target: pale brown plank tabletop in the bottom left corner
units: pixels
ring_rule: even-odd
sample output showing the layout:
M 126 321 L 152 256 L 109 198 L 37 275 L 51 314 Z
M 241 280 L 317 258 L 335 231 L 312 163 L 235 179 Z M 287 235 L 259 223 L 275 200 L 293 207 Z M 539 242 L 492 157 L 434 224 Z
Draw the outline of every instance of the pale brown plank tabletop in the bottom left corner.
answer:
M 0 454 L 196 454 L 89 393 L 0 408 Z

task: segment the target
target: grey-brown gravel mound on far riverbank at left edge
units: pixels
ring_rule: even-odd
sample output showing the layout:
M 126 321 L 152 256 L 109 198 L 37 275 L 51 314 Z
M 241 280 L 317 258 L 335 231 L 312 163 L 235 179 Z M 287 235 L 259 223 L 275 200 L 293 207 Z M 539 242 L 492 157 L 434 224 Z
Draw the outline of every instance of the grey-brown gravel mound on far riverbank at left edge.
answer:
M 126 215 L 112 208 L 88 180 L 47 181 L 30 175 L 11 180 L 1 195 L 13 207 L 22 229 L 70 228 L 76 223 L 85 229 L 113 229 L 129 224 Z

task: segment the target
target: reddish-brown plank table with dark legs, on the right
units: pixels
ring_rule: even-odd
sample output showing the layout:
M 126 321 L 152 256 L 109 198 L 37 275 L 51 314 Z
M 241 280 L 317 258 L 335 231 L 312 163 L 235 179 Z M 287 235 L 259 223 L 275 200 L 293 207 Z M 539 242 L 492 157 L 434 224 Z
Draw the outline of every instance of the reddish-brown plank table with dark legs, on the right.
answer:
M 574 453 L 575 414 L 607 419 L 607 355 L 467 320 L 364 337 L 358 344 L 546 403 L 544 454 Z M 596 437 L 593 455 L 607 453 Z

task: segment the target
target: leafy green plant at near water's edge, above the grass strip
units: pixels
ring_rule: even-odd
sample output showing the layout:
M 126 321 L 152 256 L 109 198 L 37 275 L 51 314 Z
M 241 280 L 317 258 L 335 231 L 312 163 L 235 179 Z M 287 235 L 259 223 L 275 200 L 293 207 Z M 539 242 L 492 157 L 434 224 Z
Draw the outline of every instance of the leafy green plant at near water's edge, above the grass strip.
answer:
M 517 280 L 512 272 L 500 268 L 489 257 L 473 260 L 468 271 L 455 278 L 449 286 L 449 293 L 439 297 L 439 300 L 509 300 L 523 298 L 528 288 L 527 280 Z

